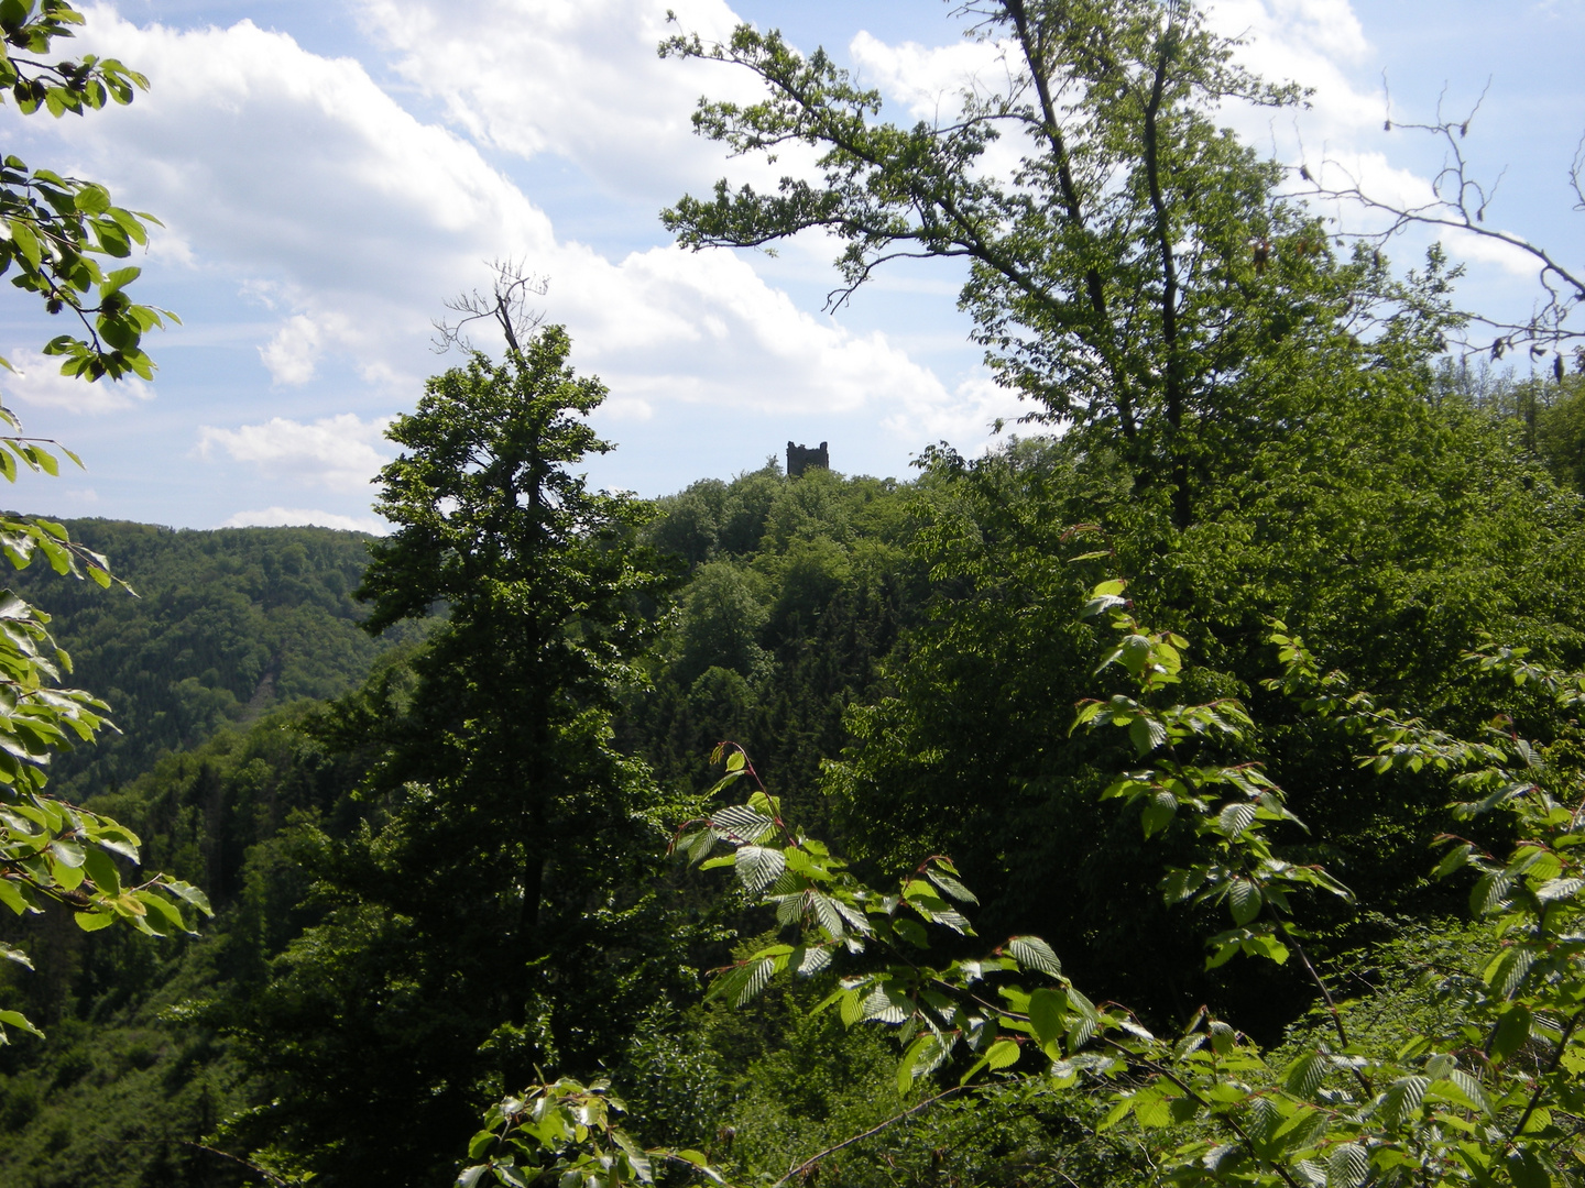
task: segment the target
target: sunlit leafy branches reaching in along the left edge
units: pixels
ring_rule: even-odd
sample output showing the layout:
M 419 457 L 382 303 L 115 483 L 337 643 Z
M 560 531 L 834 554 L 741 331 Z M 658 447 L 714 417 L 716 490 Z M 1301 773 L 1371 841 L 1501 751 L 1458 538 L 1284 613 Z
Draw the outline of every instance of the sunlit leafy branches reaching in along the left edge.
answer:
M 5 0 L 0 3 L 0 86 L 22 114 L 40 108 L 52 116 L 130 103 L 133 87 L 147 79 L 114 59 L 87 55 L 55 65 L 32 55 L 49 52 L 55 38 L 71 36 L 82 14 L 65 0 Z M 29 57 L 22 57 L 22 55 Z M 0 92 L 3 101 L 3 92 Z M 105 187 L 49 169 L 29 171 L 16 157 L 0 162 L 0 274 L 16 266 L 11 284 L 35 293 L 49 314 L 70 309 L 86 337 L 60 334 L 46 355 L 63 356 L 62 372 L 97 380 L 136 374 L 147 379 L 152 364 L 139 345 L 144 331 L 171 317 L 136 306 L 124 288 L 136 268 L 105 272 L 97 255 L 125 258 L 147 231 L 135 215 L 111 204 Z M 10 369 L 10 363 L 0 360 Z M 17 464 L 57 474 L 54 442 L 27 437 L 16 415 L 0 407 L 0 474 L 16 482 Z M 81 463 L 78 463 L 81 466 Z M 57 573 L 100 586 L 113 577 L 105 558 L 71 542 L 48 520 L 0 516 L 0 548 L 16 567 L 44 558 Z M 59 687 L 71 659 L 49 635 L 49 616 L 10 591 L 0 591 L 0 903 L 13 912 L 40 912 L 55 904 L 73 912 L 84 931 L 117 920 L 163 936 L 190 931 L 187 908 L 209 911 L 203 892 L 179 879 L 154 874 L 143 882 L 122 879 L 116 860 L 138 860 L 138 836 L 109 817 L 70 805 L 44 790 L 54 751 L 92 741 L 108 725 L 108 706 L 81 689 Z M 0 957 L 29 965 L 21 949 L 0 944 Z M 5 1025 L 38 1034 L 16 1011 L 0 1011 Z

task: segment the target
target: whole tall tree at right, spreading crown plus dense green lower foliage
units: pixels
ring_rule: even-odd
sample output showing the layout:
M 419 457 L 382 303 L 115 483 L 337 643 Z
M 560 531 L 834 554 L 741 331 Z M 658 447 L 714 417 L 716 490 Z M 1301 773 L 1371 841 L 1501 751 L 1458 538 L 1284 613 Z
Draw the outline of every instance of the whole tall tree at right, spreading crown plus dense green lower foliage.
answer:
M 1460 322 L 1441 252 L 1395 282 L 1373 246 L 1335 250 L 1284 196 L 1284 169 L 1217 128 L 1222 101 L 1301 97 L 1239 71 L 1195 6 L 957 11 L 1002 59 L 961 111 L 911 128 L 773 32 L 669 40 L 664 54 L 766 84 L 758 103 L 702 103 L 701 135 L 821 155 L 816 176 L 769 193 L 721 182 L 664 219 L 694 249 L 823 230 L 843 246 L 837 301 L 899 255 L 968 263 L 961 304 L 991 366 L 1067 432 L 924 459 L 943 480 L 916 502 L 932 615 L 888 661 L 888 695 L 850 711 L 824 789 L 856 857 L 902 862 L 924 833 L 964 863 L 995 927 L 1105 938 L 1089 960 L 1125 974 L 1132 1001 L 1192 998 L 1220 974 L 1129 881 L 1154 879 L 1155 859 L 1095 805 L 1113 756 L 1051 713 L 1086 680 L 1087 640 L 1064 610 L 1079 580 L 1067 527 L 1105 529 L 1144 613 L 1194 642 L 1206 694 L 1262 699 L 1276 616 L 1362 680 L 1458 716 L 1485 708 L 1458 662 L 1477 632 L 1577 662 L 1579 507 L 1511 425 L 1433 407 L 1431 364 Z M 1439 789 L 1406 778 L 1382 797 L 1346 775 L 1327 732 L 1281 706 L 1262 721 L 1276 778 L 1347 876 L 1379 901 L 1426 895 L 1407 859 Z M 1292 996 L 1258 996 L 1266 1022 L 1287 1022 Z

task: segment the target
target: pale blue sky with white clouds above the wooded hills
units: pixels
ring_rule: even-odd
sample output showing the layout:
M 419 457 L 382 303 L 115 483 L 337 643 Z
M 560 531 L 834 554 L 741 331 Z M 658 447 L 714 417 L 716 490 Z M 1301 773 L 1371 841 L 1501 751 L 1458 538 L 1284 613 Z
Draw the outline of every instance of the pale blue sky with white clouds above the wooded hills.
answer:
M 49 120 L 0 111 L 6 152 L 106 182 L 163 222 L 133 263 L 138 299 L 182 325 L 146 347 L 152 383 L 65 380 L 38 347 L 60 328 L 0 296 L 0 398 L 86 470 L 24 477 L 8 502 L 174 527 L 315 523 L 382 531 L 384 429 L 437 356 L 444 301 L 510 258 L 610 398 L 617 448 L 596 485 L 658 496 L 756 469 L 786 442 L 831 444 L 846 474 L 907 477 L 926 445 L 991 447 L 1022 409 L 956 309 L 949 261 L 894 268 L 837 314 L 829 241 L 775 257 L 683 252 L 658 212 L 721 176 L 773 181 L 691 133 L 704 93 L 753 97 L 715 63 L 659 60 L 666 11 L 704 36 L 739 21 L 824 46 L 888 116 L 951 103 L 992 48 L 935 0 L 114 0 L 84 5 L 79 51 L 152 81 L 125 109 Z M 1303 112 L 1228 112 L 1287 163 L 1328 160 L 1419 196 L 1441 158 L 1384 131 L 1466 114 L 1468 152 L 1501 176 L 1488 222 L 1585 263 L 1568 166 L 1585 133 L 1585 0 L 1220 0 L 1252 68 L 1314 89 Z M 1354 215 L 1346 215 L 1354 217 Z M 1363 223 L 1360 223 L 1363 225 Z M 1393 249 L 1403 261 L 1425 247 Z M 1523 315 L 1514 252 L 1449 241 L 1468 304 Z M 487 336 L 479 344 L 490 347 Z

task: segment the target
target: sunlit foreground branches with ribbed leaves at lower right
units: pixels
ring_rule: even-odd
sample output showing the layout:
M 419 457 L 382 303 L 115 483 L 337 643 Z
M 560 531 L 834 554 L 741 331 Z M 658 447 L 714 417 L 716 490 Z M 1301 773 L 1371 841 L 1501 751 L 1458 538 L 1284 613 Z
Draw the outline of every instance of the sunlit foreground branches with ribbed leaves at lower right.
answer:
M 1297 957 L 1330 1007 L 1327 1030 L 1306 1033 L 1281 1064 L 1205 1007 L 1178 1034 L 1159 1038 L 1127 1007 L 1086 996 L 1064 976 L 1051 947 L 1033 936 L 1014 936 L 986 957 L 932 963 L 937 941 L 961 950 L 973 936 L 964 909 L 975 898 L 953 863 L 932 855 L 896 889 L 867 885 L 823 843 L 781 817 L 778 798 L 731 743 L 716 751 L 726 775 L 713 794 L 747 778 L 748 798 L 691 822 L 675 847 L 702 866 L 729 866 L 745 895 L 775 911 L 783 935 L 716 971 L 712 996 L 742 1004 L 780 976 L 838 973 L 818 1009 L 837 1007 L 850 1026 L 892 1028 L 902 1047 L 902 1091 L 932 1074 L 949 1074 L 968 1091 L 1021 1077 L 1052 1095 L 1100 1098 L 1108 1109 L 1098 1129 L 1132 1126 L 1157 1182 L 1265 1188 L 1580 1183 L 1580 773 L 1549 771 L 1544 748 L 1520 738 L 1507 719 L 1469 741 L 1384 708 L 1349 691 L 1339 673 L 1323 675 L 1303 640 L 1273 624 L 1282 662 L 1273 687 L 1300 699 L 1317 719 L 1357 730 L 1369 748 L 1362 763 L 1384 773 L 1446 771 L 1458 797 L 1450 805 L 1455 819 L 1506 813 L 1520 838 L 1507 859 L 1461 838 L 1439 840 L 1439 876 L 1465 866 L 1479 874 L 1471 904 L 1496 957 L 1479 979 L 1442 979 L 1438 990 L 1446 1011 L 1433 1023 L 1362 1039 L 1346 1026 L 1295 920 L 1297 892 L 1350 898 L 1349 892 L 1323 868 L 1285 860 L 1270 836 L 1268 830 L 1298 821 L 1276 782 L 1239 754 L 1252 725 L 1247 711 L 1230 699 L 1170 700 L 1187 645 L 1138 623 L 1122 581 L 1097 586 L 1086 613 L 1110 619 L 1116 638 L 1097 672 L 1119 670 L 1127 692 L 1083 702 L 1075 729 L 1122 729 L 1136 754 L 1136 767 L 1103 795 L 1138 806 L 1146 836 L 1176 832 L 1190 843 L 1194 860 L 1168 870 L 1162 889 L 1170 903 L 1227 908 L 1233 927 L 1209 938 L 1208 965 L 1238 954 L 1279 965 Z M 1469 662 L 1533 683 L 1564 708 L 1585 700 L 1585 676 L 1531 664 L 1520 649 L 1490 646 L 1471 653 Z M 718 854 L 721 847 L 726 852 Z M 542 1152 L 552 1150 L 542 1137 L 536 1140 Z M 585 1155 L 591 1152 L 575 1158 Z M 810 1171 L 819 1158 L 799 1171 Z M 498 1182 L 531 1183 L 550 1166 L 571 1167 L 569 1159 L 571 1148 L 553 1164 L 540 1158 L 531 1174 L 498 1169 Z M 490 1167 L 476 1164 L 466 1183 Z M 607 1175 L 626 1174 L 620 1161 L 610 1167 Z

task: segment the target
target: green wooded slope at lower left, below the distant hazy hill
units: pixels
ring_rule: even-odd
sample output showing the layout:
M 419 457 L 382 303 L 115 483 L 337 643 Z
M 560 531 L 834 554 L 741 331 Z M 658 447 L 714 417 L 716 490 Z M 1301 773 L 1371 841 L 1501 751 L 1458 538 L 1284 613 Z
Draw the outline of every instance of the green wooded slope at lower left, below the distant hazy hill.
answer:
M 298 860 L 306 822 L 336 835 L 357 827 L 347 794 L 360 773 L 300 733 L 304 714 L 296 703 L 246 732 L 223 729 L 90 802 L 138 833 L 146 865 L 206 889 L 216 916 L 201 941 L 89 936 L 55 914 L 0 925 L 36 966 L 0 980 L 3 993 L 49 1033 L 0 1058 L 8 1185 L 214 1188 L 247 1177 L 220 1128 L 260 1106 L 262 1088 L 225 1033 L 269 960 L 325 914 Z

